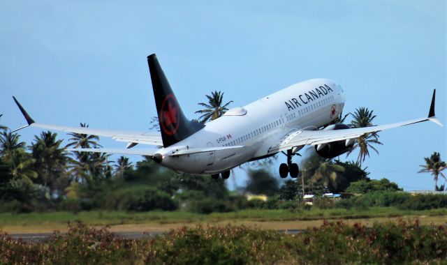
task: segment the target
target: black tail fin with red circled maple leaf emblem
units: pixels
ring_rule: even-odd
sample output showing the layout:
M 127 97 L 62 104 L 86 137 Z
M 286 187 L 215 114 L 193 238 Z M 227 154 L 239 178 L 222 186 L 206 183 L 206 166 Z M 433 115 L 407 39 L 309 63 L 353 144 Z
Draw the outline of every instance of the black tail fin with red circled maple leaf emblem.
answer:
M 170 146 L 189 137 L 204 126 L 186 119 L 155 54 L 147 56 L 147 63 L 151 73 L 156 111 L 159 114 L 161 139 L 163 139 L 163 146 Z

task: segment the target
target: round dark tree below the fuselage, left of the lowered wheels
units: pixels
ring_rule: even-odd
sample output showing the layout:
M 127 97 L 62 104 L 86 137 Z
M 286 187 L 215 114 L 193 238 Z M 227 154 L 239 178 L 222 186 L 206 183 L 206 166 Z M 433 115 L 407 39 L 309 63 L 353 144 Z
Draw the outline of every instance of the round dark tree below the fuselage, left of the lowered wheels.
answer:
M 249 170 L 246 192 L 255 195 L 274 195 L 278 191 L 278 181 L 265 169 Z

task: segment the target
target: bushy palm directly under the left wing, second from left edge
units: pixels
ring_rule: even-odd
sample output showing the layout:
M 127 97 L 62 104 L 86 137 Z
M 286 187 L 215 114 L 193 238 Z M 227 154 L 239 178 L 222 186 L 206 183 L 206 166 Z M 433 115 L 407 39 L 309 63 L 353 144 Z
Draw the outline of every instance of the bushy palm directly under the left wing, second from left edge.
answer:
M 38 174 L 35 182 L 45 185 L 51 195 L 54 191 L 57 191 L 58 195 L 63 194 L 69 182 L 66 178 L 66 168 L 70 158 L 65 149 L 61 148 L 62 140 L 57 140 L 56 137 L 56 133 L 42 132 L 40 136 L 36 135 L 34 142 L 28 146 L 35 161 L 34 170 Z

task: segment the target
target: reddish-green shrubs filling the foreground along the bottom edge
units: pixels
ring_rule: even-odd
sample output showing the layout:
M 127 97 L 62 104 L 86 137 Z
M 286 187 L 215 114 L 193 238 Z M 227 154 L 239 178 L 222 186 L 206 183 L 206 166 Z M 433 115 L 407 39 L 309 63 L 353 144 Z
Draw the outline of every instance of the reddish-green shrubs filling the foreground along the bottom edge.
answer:
M 427 264 L 447 258 L 447 227 L 325 222 L 299 234 L 244 226 L 181 227 L 141 240 L 71 224 L 45 243 L 0 239 L 4 264 Z

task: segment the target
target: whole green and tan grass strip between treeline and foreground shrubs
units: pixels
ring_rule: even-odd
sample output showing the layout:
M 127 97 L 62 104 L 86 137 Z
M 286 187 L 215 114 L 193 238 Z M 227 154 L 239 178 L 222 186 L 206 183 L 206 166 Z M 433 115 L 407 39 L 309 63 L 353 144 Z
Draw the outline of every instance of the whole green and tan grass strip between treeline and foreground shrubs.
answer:
M 229 213 L 211 213 L 209 215 L 185 211 L 150 211 L 128 213 L 122 211 L 83 211 L 80 213 L 0 213 L 0 230 L 10 233 L 51 232 L 54 229 L 66 229 L 67 222 L 84 222 L 87 225 L 109 225 L 113 230 L 121 227 L 130 231 L 166 231 L 181 225 L 198 223 L 237 223 L 240 225 L 260 226 L 268 229 L 302 229 L 320 225 L 323 220 L 351 220 L 370 222 L 393 220 L 397 217 L 420 218 L 430 223 L 447 222 L 447 209 L 427 211 L 400 210 L 394 207 L 375 207 L 363 210 L 311 209 L 267 210 L 249 209 Z M 115 227 L 115 229 L 114 229 Z

